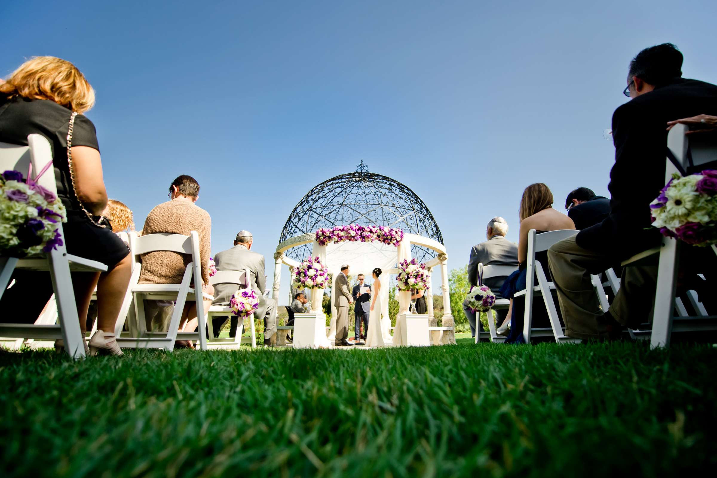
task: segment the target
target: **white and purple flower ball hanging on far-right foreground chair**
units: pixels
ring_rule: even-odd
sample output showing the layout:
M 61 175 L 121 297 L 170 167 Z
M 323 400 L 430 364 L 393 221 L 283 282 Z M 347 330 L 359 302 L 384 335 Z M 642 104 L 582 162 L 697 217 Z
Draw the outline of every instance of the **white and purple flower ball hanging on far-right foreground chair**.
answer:
M 717 244 L 717 170 L 673 178 L 650 204 L 652 226 L 695 246 Z

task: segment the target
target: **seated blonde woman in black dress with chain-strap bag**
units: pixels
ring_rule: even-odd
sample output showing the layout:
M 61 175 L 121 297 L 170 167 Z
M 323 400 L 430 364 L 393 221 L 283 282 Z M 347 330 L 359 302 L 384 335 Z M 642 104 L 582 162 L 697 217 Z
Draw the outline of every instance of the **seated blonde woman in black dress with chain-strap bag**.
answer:
M 97 287 L 98 331 L 89 347 L 85 343 L 85 351 L 122 355 L 115 340 L 115 322 L 132 270 L 129 249 L 100 217 L 107 206 L 100 147 L 95 125 L 82 114 L 94 103 L 95 91 L 75 65 L 55 57 L 29 59 L 0 82 L 0 141 L 27 145 L 27 135 L 32 133 L 49 140 L 54 168 L 45 174 L 54 173 L 57 196 L 67 209 L 67 223 L 62 226 L 65 236 L 61 238 L 67 253 L 108 266 L 102 273 L 72 272 L 83 340 L 87 309 Z M 5 291 L 0 310 L 16 310 L 22 304 L 22 315 L 34 321 L 52 296 L 49 274 L 16 270 L 12 277 L 15 284 Z M 16 315 L 5 316 L 18 321 Z M 61 340 L 57 346 L 63 346 Z

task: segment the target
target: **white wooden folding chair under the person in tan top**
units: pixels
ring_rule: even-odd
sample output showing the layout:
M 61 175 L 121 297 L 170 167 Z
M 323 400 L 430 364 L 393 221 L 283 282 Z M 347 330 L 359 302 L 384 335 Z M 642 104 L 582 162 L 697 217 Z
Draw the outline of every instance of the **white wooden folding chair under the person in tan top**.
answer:
M 163 348 L 166 350 L 174 350 L 176 340 L 199 340 L 199 348 L 206 350 L 206 322 L 204 312 L 204 299 L 214 300 L 214 297 L 208 294 L 199 293 L 201 290 L 201 260 L 199 258 L 199 234 L 191 231 L 189 236 L 181 234 L 148 234 L 146 236 L 137 236 L 130 233 L 130 253 L 133 255 L 133 269 L 130 285 L 128 287 L 128 295 L 130 300 L 125 300 L 133 304 L 134 307 L 127 307 L 128 310 L 120 312 L 120 317 L 115 326 L 115 337 L 117 343 L 122 348 Z M 190 254 L 191 262 L 187 264 L 184 270 L 184 277 L 179 284 L 140 284 L 139 277 L 142 272 L 141 255 L 148 252 L 170 251 L 179 254 Z M 195 287 L 190 287 L 194 281 Z M 174 312 L 169 322 L 168 330 L 153 331 L 147 330 L 146 317 L 144 312 L 145 300 L 174 300 Z M 196 303 L 197 321 L 199 322 L 196 332 L 179 332 L 179 320 L 184 310 L 186 301 Z M 124 310 L 123 305 L 123 310 Z M 134 327 L 128 327 L 129 330 L 136 328 L 138 332 L 136 337 L 132 337 L 130 333 L 123 333 L 123 326 L 126 320 L 135 320 Z

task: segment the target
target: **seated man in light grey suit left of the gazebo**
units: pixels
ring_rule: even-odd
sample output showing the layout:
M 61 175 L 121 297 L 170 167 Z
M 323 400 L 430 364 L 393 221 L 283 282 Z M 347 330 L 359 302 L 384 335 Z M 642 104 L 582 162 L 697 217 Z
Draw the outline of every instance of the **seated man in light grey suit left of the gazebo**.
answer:
M 252 252 L 254 237 L 249 231 L 239 231 L 234 239 L 234 247 L 214 255 L 214 262 L 217 264 L 217 271 L 236 270 L 247 271 L 250 279 L 250 287 L 257 292 L 259 297 L 259 308 L 254 312 L 254 317 L 264 319 L 264 345 L 275 345 L 276 343 L 276 301 L 264 297 L 266 289 L 266 278 L 264 275 L 264 256 Z M 232 299 L 232 294 L 237 292 L 238 284 L 217 284 L 214 286 L 214 301 L 212 304 L 227 305 Z M 232 315 L 232 326 L 229 335 L 237 334 L 237 318 Z M 223 325 L 219 320 L 219 328 Z M 225 321 L 226 322 L 226 321 Z M 214 329 L 217 331 L 217 328 Z M 216 334 L 215 334 L 216 335 Z

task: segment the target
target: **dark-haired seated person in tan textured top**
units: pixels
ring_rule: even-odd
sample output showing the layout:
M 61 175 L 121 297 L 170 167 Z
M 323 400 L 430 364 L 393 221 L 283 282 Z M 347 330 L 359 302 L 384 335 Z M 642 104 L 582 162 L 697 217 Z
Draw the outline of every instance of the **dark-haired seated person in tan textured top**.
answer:
M 212 219 L 209 213 L 194 204 L 199 198 L 199 183 L 191 176 L 183 174 L 177 176 L 169 186 L 169 201 L 154 206 L 144 222 L 142 235 L 148 234 L 181 234 L 189 236 L 191 231 L 199 234 L 199 257 L 201 260 L 201 278 L 199 287 L 196 286 L 197 278 L 194 278 L 196 290 L 202 290 L 212 295 L 214 288 L 209 285 L 209 254 L 212 244 Z M 155 251 L 142 254 L 142 272 L 139 277 L 140 284 L 180 284 L 187 264 L 191 262 L 191 255 L 179 254 L 171 251 Z M 204 300 L 204 310 L 212 302 Z M 145 306 L 148 328 L 158 328 L 151 324 L 161 309 L 157 301 L 147 300 Z M 196 304 L 187 302 L 182 311 L 179 322 L 179 330 L 193 332 L 196 330 Z M 191 341 L 177 340 L 178 347 L 193 348 Z

